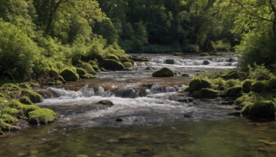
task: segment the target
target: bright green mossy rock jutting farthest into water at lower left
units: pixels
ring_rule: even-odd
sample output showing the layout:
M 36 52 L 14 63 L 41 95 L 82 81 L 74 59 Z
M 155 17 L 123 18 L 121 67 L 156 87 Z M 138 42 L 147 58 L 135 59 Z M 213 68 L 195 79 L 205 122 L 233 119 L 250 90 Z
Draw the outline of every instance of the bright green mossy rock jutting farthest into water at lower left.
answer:
M 29 112 L 28 123 L 33 125 L 52 123 L 56 121 L 57 116 L 51 109 L 37 109 Z

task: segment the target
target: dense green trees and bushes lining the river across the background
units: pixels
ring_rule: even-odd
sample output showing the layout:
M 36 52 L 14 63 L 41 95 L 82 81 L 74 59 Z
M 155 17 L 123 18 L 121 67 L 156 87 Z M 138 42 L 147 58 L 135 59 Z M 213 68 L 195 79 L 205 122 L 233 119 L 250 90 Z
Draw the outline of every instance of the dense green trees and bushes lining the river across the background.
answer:
M 108 67 L 106 59 L 132 65 L 125 52 L 235 51 L 243 52 L 243 70 L 254 63 L 275 70 L 275 6 L 272 0 L 1 0 L 1 79 L 46 83 L 72 65 L 91 74 Z

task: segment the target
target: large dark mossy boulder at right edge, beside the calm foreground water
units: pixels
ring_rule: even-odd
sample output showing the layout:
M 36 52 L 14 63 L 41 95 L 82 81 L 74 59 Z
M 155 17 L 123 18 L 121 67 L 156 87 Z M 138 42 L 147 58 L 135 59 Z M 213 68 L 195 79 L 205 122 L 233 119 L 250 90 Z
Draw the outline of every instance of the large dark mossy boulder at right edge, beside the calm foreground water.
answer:
M 242 108 L 242 115 L 256 118 L 275 118 L 276 105 L 273 101 L 248 103 Z

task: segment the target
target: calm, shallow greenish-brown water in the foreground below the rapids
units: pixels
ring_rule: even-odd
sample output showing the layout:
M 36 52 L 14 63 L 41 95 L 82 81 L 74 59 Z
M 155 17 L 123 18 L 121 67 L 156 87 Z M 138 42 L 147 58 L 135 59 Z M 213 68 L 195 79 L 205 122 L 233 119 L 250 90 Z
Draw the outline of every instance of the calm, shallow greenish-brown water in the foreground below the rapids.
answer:
M 0 140 L 0 156 L 274 156 L 276 124 L 244 118 L 81 129 L 52 124 Z

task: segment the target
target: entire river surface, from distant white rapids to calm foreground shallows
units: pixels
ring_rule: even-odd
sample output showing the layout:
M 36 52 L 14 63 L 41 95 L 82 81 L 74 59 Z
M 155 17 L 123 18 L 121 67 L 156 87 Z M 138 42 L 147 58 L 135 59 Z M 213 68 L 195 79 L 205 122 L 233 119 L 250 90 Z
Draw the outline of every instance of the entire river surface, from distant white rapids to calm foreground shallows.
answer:
M 193 100 L 178 94 L 190 78 L 237 66 L 233 56 L 146 55 L 124 72 L 55 87 L 38 105 L 61 115 L 46 126 L 24 124 L 0 136 L 0 156 L 273 156 L 276 123 L 228 116 L 220 98 Z M 169 67 L 177 76 L 152 78 Z M 101 105 L 111 101 L 114 105 Z M 185 115 L 185 116 L 184 116 Z

